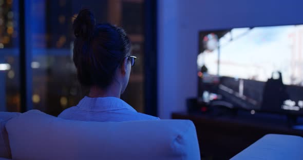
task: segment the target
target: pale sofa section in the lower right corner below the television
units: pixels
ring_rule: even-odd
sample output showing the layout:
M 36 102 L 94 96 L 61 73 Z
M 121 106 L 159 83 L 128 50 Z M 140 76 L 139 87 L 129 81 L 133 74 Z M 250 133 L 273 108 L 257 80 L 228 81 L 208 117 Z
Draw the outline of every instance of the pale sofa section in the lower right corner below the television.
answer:
M 303 138 L 295 135 L 267 134 L 235 155 L 237 159 L 303 159 Z

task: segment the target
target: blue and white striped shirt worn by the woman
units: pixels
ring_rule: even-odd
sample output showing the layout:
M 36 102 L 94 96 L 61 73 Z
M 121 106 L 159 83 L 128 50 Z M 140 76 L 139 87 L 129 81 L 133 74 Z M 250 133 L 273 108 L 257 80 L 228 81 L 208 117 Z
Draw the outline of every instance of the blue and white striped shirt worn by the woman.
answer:
M 158 117 L 137 112 L 117 97 L 85 96 L 77 106 L 67 108 L 58 117 L 78 121 L 122 122 L 157 120 Z

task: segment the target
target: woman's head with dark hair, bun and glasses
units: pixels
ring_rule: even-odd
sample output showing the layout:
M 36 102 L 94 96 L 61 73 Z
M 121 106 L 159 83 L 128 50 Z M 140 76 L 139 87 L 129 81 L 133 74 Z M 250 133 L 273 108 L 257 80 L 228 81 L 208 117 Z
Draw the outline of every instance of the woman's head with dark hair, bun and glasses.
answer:
M 125 90 L 131 67 L 131 44 L 122 28 L 96 24 L 93 14 L 82 9 L 73 23 L 73 62 L 83 86 L 106 89 L 113 81 Z

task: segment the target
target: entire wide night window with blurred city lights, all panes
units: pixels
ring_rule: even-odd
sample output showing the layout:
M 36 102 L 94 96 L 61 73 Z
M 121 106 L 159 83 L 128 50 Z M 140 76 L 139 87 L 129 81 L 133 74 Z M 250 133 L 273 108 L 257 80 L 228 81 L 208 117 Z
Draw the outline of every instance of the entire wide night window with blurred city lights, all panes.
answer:
M 132 54 L 138 58 L 121 98 L 144 112 L 144 3 L 144 0 L 0 0 L 0 97 L 3 97 L 0 111 L 38 109 L 56 116 L 77 105 L 88 93 L 87 88 L 80 86 L 72 62 L 72 23 L 81 8 L 89 8 L 98 23 L 111 23 L 127 32 Z M 20 32 L 25 37 L 19 35 L 20 29 L 25 30 Z M 26 49 L 21 50 L 23 46 Z M 22 87 L 24 84 L 26 89 Z M 21 104 L 23 97 L 26 104 Z

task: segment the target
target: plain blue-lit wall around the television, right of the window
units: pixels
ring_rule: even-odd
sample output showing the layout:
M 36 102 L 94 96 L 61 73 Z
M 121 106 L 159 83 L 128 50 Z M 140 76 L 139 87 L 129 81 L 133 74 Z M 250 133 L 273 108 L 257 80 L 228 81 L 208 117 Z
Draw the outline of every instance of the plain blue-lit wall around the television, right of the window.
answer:
M 158 0 L 158 115 L 197 96 L 200 30 L 303 24 L 300 0 Z

